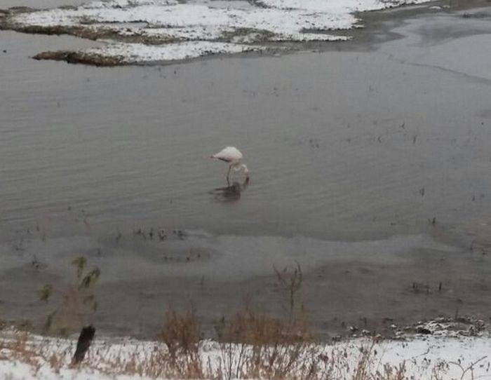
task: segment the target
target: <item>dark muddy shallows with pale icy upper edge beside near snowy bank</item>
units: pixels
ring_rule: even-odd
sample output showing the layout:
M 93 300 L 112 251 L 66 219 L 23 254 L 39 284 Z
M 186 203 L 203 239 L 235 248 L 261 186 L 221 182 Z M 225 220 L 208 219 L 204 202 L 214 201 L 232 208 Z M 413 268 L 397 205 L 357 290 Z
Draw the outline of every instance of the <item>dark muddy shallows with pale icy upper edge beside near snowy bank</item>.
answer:
M 201 318 L 203 329 L 210 334 L 215 321 L 231 309 L 241 310 L 244 300 L 248 306 L 282 318 L 285 290 L 274 271 L 284 270 L 289 278 L 297 264 L 302 271 L 297 304 L 302 304 L 312 329 L 323 339 L 349 336 L 349 326 L 389 337 L 395 336 L 394 324 L 411 325 L 441 316 L 490 317 L 490 304 L 484 301 L 489 255 L 477 244 L 470 251 L 409 236 L 356 243 L 318 240 L 316 247 L 313 240 L 302 242 L 298 237 L 267 237 L 263 242 L 258 237 L 222 236 L 211 238 L 213 244 L 206 247 L 201 238 L 184 233 L 186 237 L 170 236 L 163 242 L 123 236 L 106 245 L 100 241 L 93 245 L 82 239 L 73 249 L 62 250 L 59 247 L 66 243 L 56 239 L 35 245 L 24 240 L 22 255 L 28 259 L 22 266 L 8 264 L 0 281 L 4 318 L 39 332 L 46 316 L 64 302 L 64 294 L 74 286 L 72 262 L 83 252 L 86 270 L 100 270 L 94 288 L 97 311 L 90 318 L 105 334 L 152 337 L 166 308 L 186 310 L 190 305 L 206 311 Z M 255 242 L 257 252 L 248 254 L 250 245 L 243 245 L 241 239 Z M 258 249 L 268 242 L 282 247 L 281 252 Z M 244 252 L 238 250 L 242 245 Z M 234 255 L 230 247 L 236 247 Z M 295 254 L 298 247 L 309 254 Z M 128 248 L 141 253 L 128 255 Z M 164 256 L 163 249 L 167 250 Z M 34 252 L 34 259 L 29 252 Z M 323 257 L 323 252 L 337 256 Z M 255 266 L 247 266 L 245 259 Z M 138 274 L 142 272 L 144 278 Z M 46 285 L 53 287 L 53 296 L 43 302 L 39 291 Z M 140 308 L 131 307 L 133 304 Z

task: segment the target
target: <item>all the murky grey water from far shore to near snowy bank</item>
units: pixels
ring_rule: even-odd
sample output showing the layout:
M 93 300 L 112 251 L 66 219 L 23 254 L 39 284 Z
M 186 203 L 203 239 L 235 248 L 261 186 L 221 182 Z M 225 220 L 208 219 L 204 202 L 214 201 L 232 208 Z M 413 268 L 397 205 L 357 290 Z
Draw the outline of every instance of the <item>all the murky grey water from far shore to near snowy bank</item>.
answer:
M 149 334 L 168 304 L 271 302 L 272 266 L 295 261 L 321 271 L 306 297 L 335 304 L 332 318 L 431 317 L 460 297 L 485 315 L 490 262 L 466 234 L 491 212 L 490 18 L 401 17 L 371 31 L 398 38 L 363 52 L 111 69 L 29 59 L 89 42 L 1 32 L 2 313 L 43 315 L 36 289 L 82 254 L 102 269 L 93 318 L 107 330 Z M 228 144 L 252 172 L 240 193 L 206 159 Z M 447 269 L 440 306 L 394 312 L 407 284 Z M 329 311 L 312 313 L 326 327 Z

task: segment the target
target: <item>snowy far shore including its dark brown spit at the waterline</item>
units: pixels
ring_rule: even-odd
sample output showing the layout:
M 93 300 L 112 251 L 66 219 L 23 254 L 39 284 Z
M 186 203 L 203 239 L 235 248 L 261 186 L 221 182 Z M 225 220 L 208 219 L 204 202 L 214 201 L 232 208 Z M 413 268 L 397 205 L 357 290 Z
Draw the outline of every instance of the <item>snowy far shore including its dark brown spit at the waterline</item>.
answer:
M 282 50 L 288 51 L 304 51 L 306 48 L 308 49 L 309 41 L 316 41 L 318 44 L 319 41 L 322 41 L 325 44 L 325 41 L 347 41 L 351 39 L 351 36 L 344 36 L 343 33 L 339 33 L 339 30 L 347 29 L 347 32 L 353 32 L 356 28 L 362 27 L 358 25 L 358 20 L 363 20 L 362 18 L 358 18 L 363 13 L 358 11 L 349 11 L 350 8 L 344 10 L 344 13 L 340 11 L 340 8 L 323 8 L 322 4 L 319 4 L 321 7 L 318 11 L 316 8 L 308 8 L 309 12 L 314 12 L 314 18 L 309 20 L 309 15 L 303 12 L 297 11 L 297 8 L 284 8 L 283 6 L 276 4 L 277 8 L 275 8 L 274 0 L 265 0 L 270 1 L 271 4 L 263 4 L 263 8 L 267 9 L 266 15 L 269 15 L 270 12 L 276 10 L 276 12 L 285 13 L 285 17 L 295 18 L 295 22 L 292 22 L 292 25 L 298 25 L 300 29 L 296 32 L 293 32 L 295 27 L 290 26 L 292 29 L 291 32 L 288 32 L 288 27 L 283 26 L 285 29 L 283 32 L 280 32 L 282 27 L 280 24 L 275 25 L 275 22 L 272 20 L 262 22 L 266 22 L 266 26 L 260 27 L 257 26 L 257 21 L 254 20 L 254 11 L 248 10 L 247 7 L 242 9 L 238 7 L 236 11 L 237 15 L 232 14 L 231 20 L 237 20 L 237 18 L 244 17 L 243 22 L 245 22 L 245 26 L 241 25 L 240 22 L 236 24 L 238 21 L 232 22 L 231 26 L 227 25 L 208 25 L 207 22 L 210 22 L 208 18 L 213 19 L 214 17 L 218 17 L 221 13 L 216 11 L 213 6 L 209 6 L 207 12 L 211 12 L 209 16 L 207 16 L 206 12 L 203 15 L 203 22 L 205 22 L 202 27 L 193 27 L 188 26 L 190 31 L 186 32 L 186 27 L 182 27 L 182 23 L 186 24 L 185 18 L 182 22 L 177 23 L 177 27 L 180 29 L 184 29 L 182 32 L 178 32 L 174 37 L 175 29 L 170 28 L 167 29 L 167 34 L 159 35 L 158 29 L 156 26 L 153 26 L 151 29 L 144 29 L 143 27 L 137 27 L 132 31 L 133 25 L 130 23 L 128 27 L 124 30 L 119 30 L 118 27 L 113 27 L 112 25 L 116 25 L 114 22 L 117 19 L 117 9 L 109 9 L 106 12 L 113 12 L 115 15 L 109 17 L 109 25 L 105 25 L 104 22 L 98 22 L 97 20 L 104 20 L 102 16 L 103 11 L 100 11 L 100 14 L 97 17 L 91 20 L 91 16 L 93 12 L 89 12 L 88 15 L 84 14 L 85 7 L 68 7 L 68 8 L 58 8 L 54 11 L 50 10 L 39 10 L 39 9 L 30 9 L 30 8 L 10 8 L 8 10 L 2 11 L 3 20 L 0 18 L 0 29 L 13 30 L 16 32 L 22 32 L 27 34 L 47 34 L 47 35 L 62 35 L 67 34 L 71 36 L 76 36 L 81 39 L 88 39 L 94 41 L 102 41 L 102 45 L 96 46 L 94 48 L 88 48 L 85 50 L 50 50 L 39 52 L 34 55 L 35 60 L 61 60 L 68 63 L 81 63 L 84 65 L 95 65 L 97 67 L 114 67 L 121 65 L 172 65 L 175 63 L 183 63 L 183 62 L 191 62 L 196 58 L 205 57 L 207 55 L 218 55 L 218 56 L 234 56 L 237 53 L 248 53 L 248 52 L 259 52 L 265 53 L 267 55 L 276 55 L 281 53 Z M 404 1 L 401 1 L 401 4 L 390 4 L 390 5 L 372 5 L 375 8 L 392 8 L 398 6 L 415 6 L 413 9 L 418 9 L 419 2 L 421 0 L 412 0 L 410 2 L 415 2 L 414 4 L 404 4 Z M 184 3 L 187 4 L 187 3 Z M 189 3 L 192 4 L 192 3 Z M 247 4 L 247 3 L 245 3 Z M 169 4 L 172 5 L 172 4 Z M 258 4 L 254 3 L 251 6 L 257 6 Z M 260 4 L 259 4 L 260 5 Z M 184 6 L 184 5 L 182 5 Z M 311 6 L 311 5 L 310 5 Z M 100 5 L 98 6 L 100 7 Z M 363 9 L 363 5 L 358 4 L 358 8 Z M 102 7 L 105 8 L 105 7 Z M 119 8 L 117 6 L 116 8 Z M 164 7 L 166 8 L 166 7 Z M 192 8 L 192 5 L 191 5 Z M 428 7 L 426 7 L 428 8 Z M 97 11 L 99 8 L 95 6 L 95 8 L 91 11 Z M 156 9 L 152 8 L 153 11 Z M 169 9 L 172 9 L 169 7 Z M 203 11 L 203 9 L 196 8 L 199 11 Z M 216 16 L 213 16 L 213 9 L 217 12 Z M 227 10 L 223 9 L 222 11 L 225 13 L 232 11 L 234 8 L 227 8 Z M 262 9 L 260 8 L 257 9 Z M 299 8 L 300 9 L 300 8 Z M 303 9 L 303 8 L 302 8 Z M 54 13 L 58 11 L 58 13 Z M 89 10 L 90 11 L 90 10 Z M 370 6 L 365 11 L 371 11 Z M 49 20 L 49 13 L 52 12 L 53 20 Z M 67 19 L 65 21 L 62 20 L 62 13 L 67 13 Z M 151 12 L 151 13 L 152 13 Z M 250 12 L 250 13 L 248 13 Z M 256 12 L 260 12 L 257 11 Z M 319 12 L 318 15 L 316 12 Z M 324 13 L 323 13 L 324 12 Z M 332 12 L 332 14 L 330 13 Z M 41 13 L 39 16 L 39 20 L 36 21 L 36 14 Z M 73 13 L 73 15 L 70 15 Z M 81 15 L 77 15 L 80 13 Z M 162 17 L 166 17 L 166 13 L 162 14 Z M 233 13 L 233 12 L 232 12 Z M 242 14 L 243 13 L 243 14 Z M 290 15 L 292 13 L 292 16 Z M 248 20 L 247 15 L 253 15 L 251 20 Z M 223 15 L 222 15 L 223 16 Z M 278 17 L 280 15 L 278 14 Z M 316 17 L 323 16 L 323 17 Z M 121 15 L 123 20 L 126 16 Z M 144 13 L 142 13 L 140 18 L 144 18 Z M 269 17 L 269 16 L 268 16 Z M 377 16 L 376 16 L 377 17 Z M 80 18 L 80 23 L 74 23 L 74 20 Z M 140 20 L 137 18 L 140 24 L 144 23 L 143 19 Z M 218 17 L 219 18 L 219 17 Z M 303 20 L 307 18 L 308 20 Z M 318 21 L 321 19 L 328 19 L 329 21 L 325 25 Z M 346 20 L 344 20 L 346 18 Z M 32 20 L 31 20 L 32 19 Z M 86 20 L 87 19 L 87 20 Z M 258 20 L 262 19 L 259 17 Z M 147 27 L 152 25 L 153 18 L 149 18 L 147 22 Z M 131 21 L 131 20 L 130 20 Z M 121 21 L 123 22 L 123 21 Z M 135 20 L 131 21 L 132 23 Z M 161 20 L 159 20 L 159 23 Z M 170 22 L 170 21 L 168 21 Z M 251 25 L 255 25 L 253 27 L 248 27 L 247 23 L 253 22 Z M 303 27 L 300 25 L 304 24 Z M 88 25 L 86 25 L 88 24 Z M 165 24 L 165 22 L 164 22 Z M 317 27 L 315 26 L 316 24 Z M 271 30 L 267 28 L 272 28 Z M 97 29 L 99 28 L 99 29 Z M 178 29 L 179 29 L 178 28 Z M 204 36 L 202 38 L 197 37 L 199 32 L 196 30 L 203 28 L 205 31 Z M 206 30 L 208 32 L 206 32 Z M 217 34 L 217 31 L 214 31 L 214 28 L 224 28 L 222 32 Z M 230 29 L 232 28 L 232 29 Z M 276 29 L 278 30 L 276 30 Z M 285 32 L 286 31 L 286 32 Z M 331 31 L 337 34 L 327 34 Z M 182 33 L 182 35 L 180 34 Z M 189 36 L 188 34 L 189 33 Z M 208 35 L 210 34 L 210 35 Z M 366 33 L 365 33 L 366 35 Z M 325 40 L 325 41 L 324 41 Z M 243 41 L 243 42 L 241 42 Z M 322 46 L 322 45 L 321 45 Z M 322 48 L 321 48 L 322 49 Z M 225 53 L 225 54 L 224 54 Z M 230 54 L 231 53 L 231 54 Z

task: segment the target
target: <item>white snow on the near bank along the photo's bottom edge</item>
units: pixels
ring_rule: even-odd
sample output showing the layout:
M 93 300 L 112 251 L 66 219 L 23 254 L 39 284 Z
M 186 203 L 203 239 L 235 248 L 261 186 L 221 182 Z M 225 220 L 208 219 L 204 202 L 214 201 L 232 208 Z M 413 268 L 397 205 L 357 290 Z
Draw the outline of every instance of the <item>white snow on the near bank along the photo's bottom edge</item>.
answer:
M 7 379 L 152 379 L 149 368 L 159 366 L 163 344 L 129 339 L 97 339 L 79 368 L 69 367 L 76 341 L 49 339 L 4 332 L 0 336 L 0 374 Z M 10 346 L 9 346 L 10 344 Z M 231 350 L 229 350 L 231 348 Z M 328 379 L 351 379 L 367 374 L 390 374 L 403 370 L 410 379 L 478 379 L 491 376 L 491 337 L 423 337 L 401 341 L 351 339 L 334 345 L 316 346 L 318 370 Z M 230 360 L 239 360 L 243 346 L 205 341 L 199 359 L 215 374 L 224 374 Z M 305 351 L 309 355 L 314 351 Z M 153 367 L 152 367 L 153 366 Z M 388 372 L 392 371 L 392 372 Z M 157 372 L 155 372 L 157 373 Z M 389 373 L 389 374 L 388 374 Z M 389 376 L 390 375 L 390 376 Z M 234 377 L 234 376 L 232 376 Z M 368 377 L 356 377 L 365 379 Z M 370 377 L 371 379 L 371 377 Z

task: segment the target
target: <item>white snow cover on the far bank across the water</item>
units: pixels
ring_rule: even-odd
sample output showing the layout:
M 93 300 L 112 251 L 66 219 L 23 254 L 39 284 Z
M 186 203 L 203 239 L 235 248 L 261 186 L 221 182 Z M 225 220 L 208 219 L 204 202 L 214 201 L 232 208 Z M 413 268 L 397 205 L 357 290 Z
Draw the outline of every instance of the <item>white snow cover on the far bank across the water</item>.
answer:
M 0 21 L 6 29 L 104 40 L 103 46 L 82 53 L 128 64 L 239 53 L 259 49 L 251 44 L 264 48 L 278 41 L 346 40 L 331 31 L 360 27 L 354 12 L 424 1 L 110 0 L 76 8 L 15 10 Z

